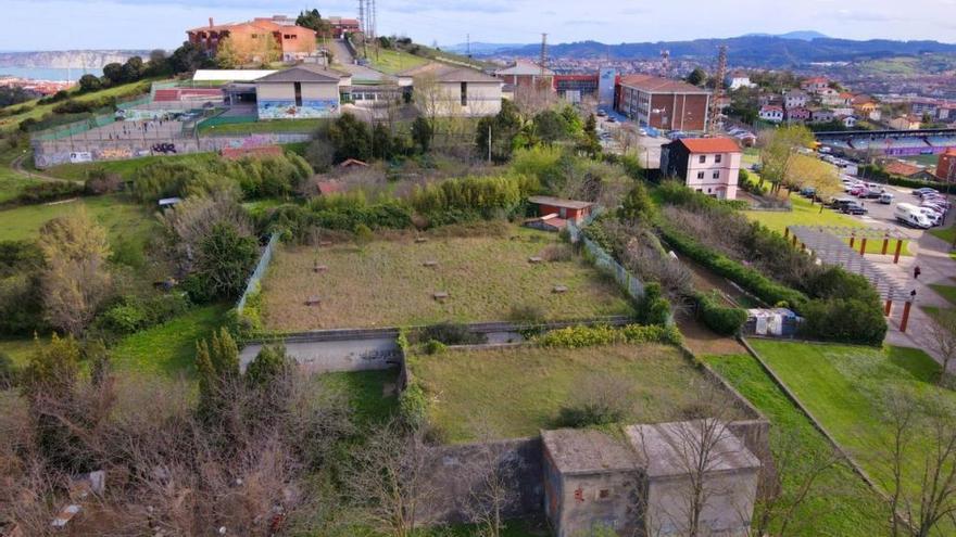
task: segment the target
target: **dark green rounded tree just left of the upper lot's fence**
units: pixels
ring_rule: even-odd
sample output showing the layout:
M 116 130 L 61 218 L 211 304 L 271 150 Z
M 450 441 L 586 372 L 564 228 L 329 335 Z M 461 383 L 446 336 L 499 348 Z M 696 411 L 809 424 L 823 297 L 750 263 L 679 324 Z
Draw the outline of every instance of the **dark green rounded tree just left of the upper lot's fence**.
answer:
M 226 221 L 213 226 L 200 242 L 197 276 L 211 296 L 236 298 L 246 286 L 257 247 L 255 239 Z

